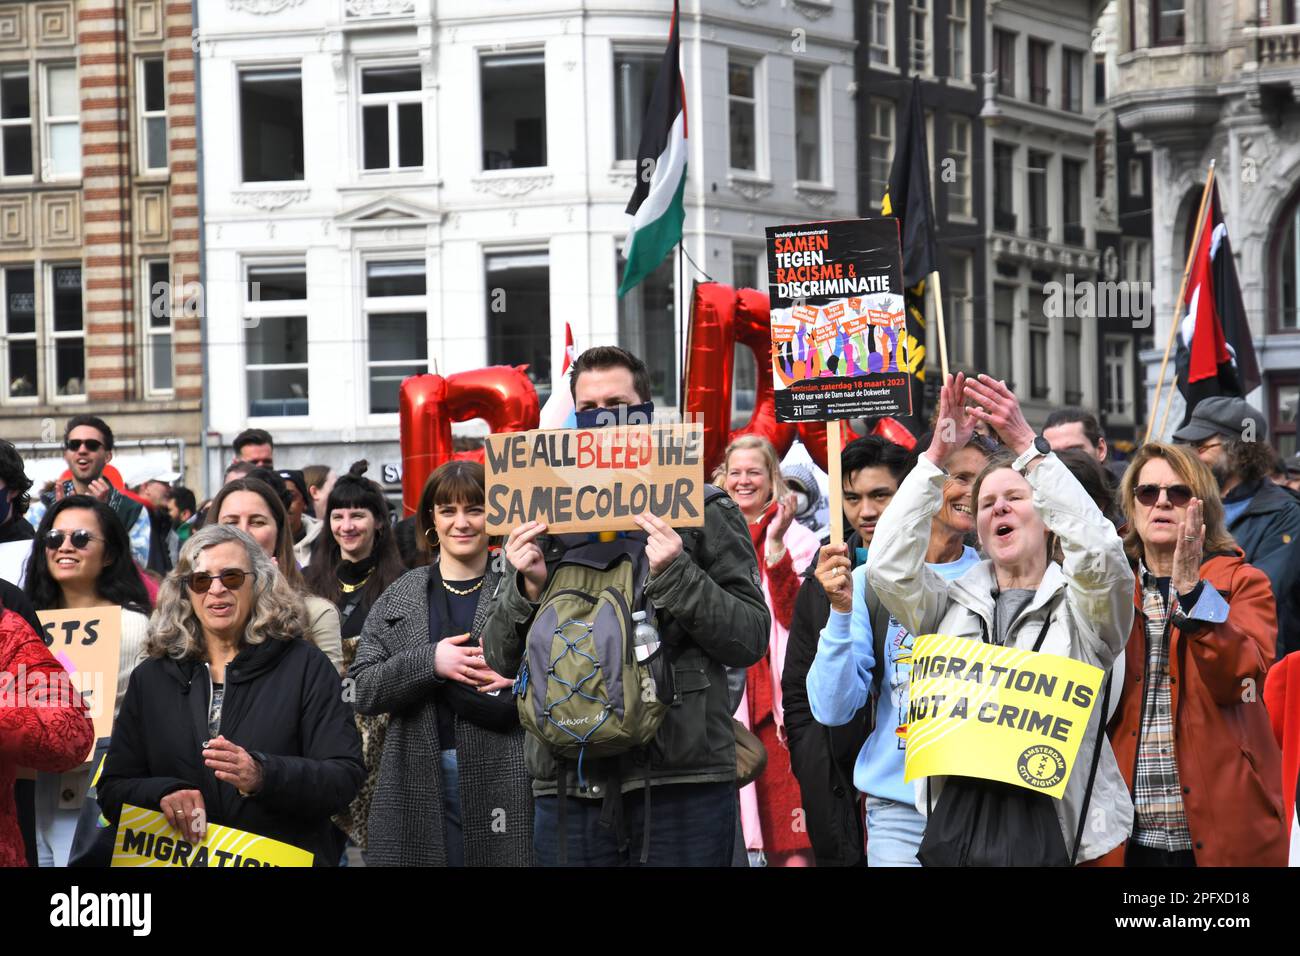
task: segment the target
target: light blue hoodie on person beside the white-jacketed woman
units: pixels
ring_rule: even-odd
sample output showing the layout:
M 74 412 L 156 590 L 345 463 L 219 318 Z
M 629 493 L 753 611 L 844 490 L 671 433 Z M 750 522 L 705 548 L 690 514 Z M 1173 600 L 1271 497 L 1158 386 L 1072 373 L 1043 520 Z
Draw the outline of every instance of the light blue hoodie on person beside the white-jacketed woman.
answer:
M 966 548 L 962 557 L 944 564 L 930 564 L 948 580 L 961 578 L 979 563 L 974 548 Z M 867 587 L 867 566 L 853 570 L 853 611 L 844 614 L 831 609 L 831 618 L 822 628 L 816 657 L 809 669 L 809 704 L 818 723 L 838 727 L 853 719 L 867 702 L 874 689 L 871 669 L 875 666 L 875 645 L 871 639 L 871 611 L 862 596 Z M 876 702 L 876 728 L 862 745 L 853 767 L 853 786 L 874 797 L 884 797 L 911 806 L 915 792 L 902 782 L 904 737 L 898 735 L 902 721 L 898 714 L 907 711 L 907 687 L 911 683 L 911 639 L 902 626 L 889 615 L 885 635 L 884 692 Z

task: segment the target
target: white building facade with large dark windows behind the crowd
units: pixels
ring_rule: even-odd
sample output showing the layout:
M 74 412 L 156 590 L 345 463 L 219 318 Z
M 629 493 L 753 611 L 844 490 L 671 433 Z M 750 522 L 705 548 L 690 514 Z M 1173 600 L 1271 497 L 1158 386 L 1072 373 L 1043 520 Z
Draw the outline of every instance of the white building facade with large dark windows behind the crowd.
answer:
M 545 401 L 566 323 L 675 406 L 679 268 L 764 287 L 764 226 L 857 209 L 852 12 L 685 8 L 698 271 L 619 299 L 671 3 L 203 0 L 209 470 L 246 424 L 277 463 L 396 463 L 403 377 L 526 364 Z

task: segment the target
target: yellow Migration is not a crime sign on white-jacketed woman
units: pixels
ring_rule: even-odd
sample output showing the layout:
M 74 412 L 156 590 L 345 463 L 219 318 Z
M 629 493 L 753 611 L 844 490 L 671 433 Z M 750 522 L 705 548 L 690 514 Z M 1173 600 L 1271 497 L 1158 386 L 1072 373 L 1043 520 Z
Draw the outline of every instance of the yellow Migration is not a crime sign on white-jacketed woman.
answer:
M 904 779 L 982 777 L 1062 797 L 1104 676 L 1056 654 L 918 637 Z

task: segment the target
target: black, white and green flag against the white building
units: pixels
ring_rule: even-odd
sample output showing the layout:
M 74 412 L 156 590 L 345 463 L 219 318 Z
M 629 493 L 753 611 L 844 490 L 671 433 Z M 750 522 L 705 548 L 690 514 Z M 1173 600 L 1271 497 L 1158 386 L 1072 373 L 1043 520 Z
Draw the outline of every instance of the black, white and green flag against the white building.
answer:
M 632 229 L 624 250 L 627 265 L 619 295 L 659 268 L 664 256 L 681 242 L 686 217 L 686 91 L 681 83 L 677 3 L 672 4 L 668 48 L 659 64 L 650 107 L 641 122 L 637 148 L 637 187 L 628 202 Z

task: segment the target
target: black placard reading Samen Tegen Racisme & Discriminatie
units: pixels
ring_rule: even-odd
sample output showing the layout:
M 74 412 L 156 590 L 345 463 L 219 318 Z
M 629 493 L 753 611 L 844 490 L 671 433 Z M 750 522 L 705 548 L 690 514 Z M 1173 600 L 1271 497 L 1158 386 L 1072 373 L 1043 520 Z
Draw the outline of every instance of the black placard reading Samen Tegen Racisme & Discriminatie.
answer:
M 898 221 L 771 226 L 767 268 L 777 420 L 911 415 L 924 351 L 907 334 Z M 775 334 L 792 324 L 793 341 Z

